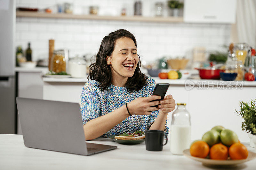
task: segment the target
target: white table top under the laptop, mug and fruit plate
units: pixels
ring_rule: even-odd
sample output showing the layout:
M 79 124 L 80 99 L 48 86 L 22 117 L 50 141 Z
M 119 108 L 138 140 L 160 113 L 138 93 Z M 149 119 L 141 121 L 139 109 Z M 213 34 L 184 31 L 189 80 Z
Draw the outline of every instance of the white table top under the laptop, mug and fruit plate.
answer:
M 115 145 L 115 150 L 91 156 L 27 148 L 22 135 L 0 134 L 0 169 L 211 169 L 185 156 L 172 155 L 170 143 L 161 152 L 147 151 L 145 142 L 122 145 L 109 138 L 97 138 L 91 143 Z M 253 151 L 248 144 L 246 147 Z M 255 169 L 256 159 L 232 169 Z M 223 169 L 223 168 L 222 168 Z

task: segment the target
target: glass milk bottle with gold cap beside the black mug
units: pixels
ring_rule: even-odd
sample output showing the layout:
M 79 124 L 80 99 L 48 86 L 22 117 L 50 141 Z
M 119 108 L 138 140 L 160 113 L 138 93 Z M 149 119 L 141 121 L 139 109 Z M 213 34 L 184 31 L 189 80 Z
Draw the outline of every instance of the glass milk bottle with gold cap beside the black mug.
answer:
M 172 113 L 171 123 L 171 152 L 183 155 L 183 150 L 189 149 L 191 142 L 190 115 L 186 103 L 177 103 L 177 109 Z

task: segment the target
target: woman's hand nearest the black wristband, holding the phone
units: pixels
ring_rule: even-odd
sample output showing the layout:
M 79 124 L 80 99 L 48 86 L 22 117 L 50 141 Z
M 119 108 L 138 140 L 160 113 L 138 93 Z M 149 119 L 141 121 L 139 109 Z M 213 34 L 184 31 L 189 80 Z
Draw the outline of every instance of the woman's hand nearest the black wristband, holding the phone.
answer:
M 139 97 L 127 103 L 129 112 L 132 115 L 150 115 L 152 111 L 159 110 L 158 107 L 151 107 L 160 104 L 161 96 Z

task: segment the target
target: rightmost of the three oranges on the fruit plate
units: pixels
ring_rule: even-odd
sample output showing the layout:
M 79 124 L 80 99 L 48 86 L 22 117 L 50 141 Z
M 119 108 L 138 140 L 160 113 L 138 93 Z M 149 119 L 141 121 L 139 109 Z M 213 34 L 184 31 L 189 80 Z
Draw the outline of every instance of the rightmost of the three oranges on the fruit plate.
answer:
M 232 144 L 228 153 L 231 159 L 246 159 L 248 157 L 248 150 L 241 143 Z

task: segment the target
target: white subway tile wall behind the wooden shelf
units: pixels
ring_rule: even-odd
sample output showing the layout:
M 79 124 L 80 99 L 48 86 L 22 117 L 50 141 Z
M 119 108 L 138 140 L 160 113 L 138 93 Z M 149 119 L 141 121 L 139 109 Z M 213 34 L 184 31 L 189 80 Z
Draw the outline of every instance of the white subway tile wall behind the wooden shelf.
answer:
M 155 2 L 163 0 L 144 0 L 144 16 L 154 15 Z M 129 15 L 133 14 L 134 0 L 17 0 L 17 7 L 33 7 L 43 9 L 56 4 L 70 2 L 74 10 L 78 7 L 88 9 L 91 5 L 102 9 L 111 9 L 120 13 L 121 8 L 127 8 Z M 83 11 L 83 10 L 80 10 Z M 88 12 L 88 10 L 87 10 Z M 108 13 L 108 11 L 105 11 Z M 84 13 L 82 13 L 84 14 Z M 33 61 L 48 57 L 48 40 L 55 40 L 55 49 L 68 48 L 70 56 L 96 54 L 100 42 L 108 33 L 117 29 L 131 31 L 137 40 L 138 54 L 142 60 L 154 61 L 163 56 L 186 56 L 192 58 L 192 50 L 203 46 L 208 51 L 222 49 L 230 42 L 229 24 L 195 24 L 195 23 L 153 23 L 134 21 L 106 21 L 83 19 L 54 18 L 17 18 L 16 46 L 25 50 L 31 42 Z

